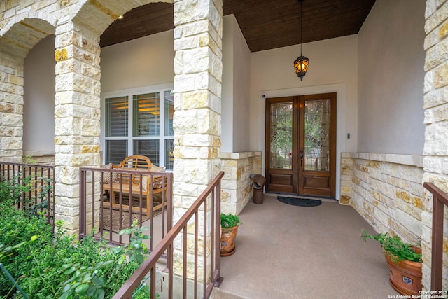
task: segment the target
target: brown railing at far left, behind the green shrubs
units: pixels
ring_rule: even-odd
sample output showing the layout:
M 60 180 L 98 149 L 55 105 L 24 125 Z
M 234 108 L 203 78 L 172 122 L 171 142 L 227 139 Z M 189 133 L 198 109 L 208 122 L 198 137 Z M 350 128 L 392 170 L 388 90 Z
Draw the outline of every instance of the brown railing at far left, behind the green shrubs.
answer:
M 10 195 L 18 209 L 44 211 L 55 227 L 55 166 L 0 162 L 0 182 L 10 183 Z

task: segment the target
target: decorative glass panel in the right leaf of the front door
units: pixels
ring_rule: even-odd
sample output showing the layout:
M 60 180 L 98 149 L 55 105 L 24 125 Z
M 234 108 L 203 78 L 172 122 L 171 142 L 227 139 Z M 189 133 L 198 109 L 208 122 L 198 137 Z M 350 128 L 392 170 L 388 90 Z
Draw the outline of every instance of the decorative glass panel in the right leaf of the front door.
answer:
M 330 170 L 330 100 L 305 102 L 305 170 Z

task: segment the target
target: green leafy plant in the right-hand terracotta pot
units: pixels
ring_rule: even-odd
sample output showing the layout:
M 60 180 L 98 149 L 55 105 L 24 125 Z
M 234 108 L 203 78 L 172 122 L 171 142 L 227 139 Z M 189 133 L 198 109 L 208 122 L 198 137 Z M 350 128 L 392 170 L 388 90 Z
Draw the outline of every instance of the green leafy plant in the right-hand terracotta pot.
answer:
M 391 256 L 393 261 L 410 260 L 412 262 L 421 263 L 421 253 L 416 253 L 414 247 L 420 247 L 419 244 L 404 243 L 398 236 L 388 236 L 387 232 L 378 235 L 370 235 L 363 230 L 361 239 L 367 242 L 367 239 L 374 239 L 381 244 L 381 248 Z

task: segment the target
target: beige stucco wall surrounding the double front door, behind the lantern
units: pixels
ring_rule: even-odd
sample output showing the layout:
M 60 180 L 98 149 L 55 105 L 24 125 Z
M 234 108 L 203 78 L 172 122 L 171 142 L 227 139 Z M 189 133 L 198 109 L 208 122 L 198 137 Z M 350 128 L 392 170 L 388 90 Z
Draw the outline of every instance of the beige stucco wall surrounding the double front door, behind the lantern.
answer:
M 303 45 L 303 55 L 309 58 L 309 69 L 303 81 L 297 78 L 293 62 L 300 55 L 300 45 L 251 53 L 251 150 L 264 151 L 259 139 L 265 127 L 258 117 L 264 117 L 264 106 L 260 105 L 260 92 L 293 88 L 318 87 L 345 83 L 346 117 L 337 119 L 338 124 L 351 134 L 343 142 L 346 151 L 356 151 L 357 136 L 357 36 L 316 41 Z M 339 113 L 339 112 L 338 112 Z M 340 153 L 338 153 L 339 155 Z

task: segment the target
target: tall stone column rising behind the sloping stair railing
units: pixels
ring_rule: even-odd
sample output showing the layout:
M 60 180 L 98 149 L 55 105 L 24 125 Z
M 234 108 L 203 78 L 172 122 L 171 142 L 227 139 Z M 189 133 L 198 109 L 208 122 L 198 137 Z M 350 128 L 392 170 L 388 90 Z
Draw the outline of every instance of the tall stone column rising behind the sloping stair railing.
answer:
M 174 222 L 221 168 L 222 7 L 174 0 Z

